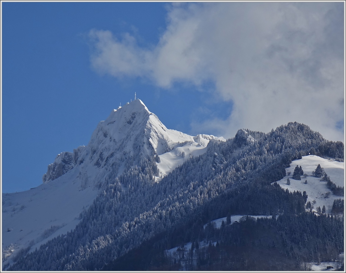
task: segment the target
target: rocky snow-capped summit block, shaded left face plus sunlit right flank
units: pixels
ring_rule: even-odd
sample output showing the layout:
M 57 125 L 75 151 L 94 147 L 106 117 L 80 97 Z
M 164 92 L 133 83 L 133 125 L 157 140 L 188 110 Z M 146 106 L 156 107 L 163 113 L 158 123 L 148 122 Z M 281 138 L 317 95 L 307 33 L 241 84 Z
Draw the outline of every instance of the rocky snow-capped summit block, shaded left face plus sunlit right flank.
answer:
M 83 189 L 91 181 L 103 183 L 115 179 L 120 172 L 139 165 L 143 158 L 163 155 L 188 145 L 193 149 L 178 149 L 179 151 L 169 156 L 181 156 L 185 152 L 190 153 L 190 150 L 192 153 L 206 147 L 210 139 L 225 140 L 209 135 L 193 137 L 167 129 L 158 117 L 137 99 L 112 110 L 106 120 L 100 121 L 87 146 L 80 146 L 74 149 L 73 153 L 59 154 L 55 161 L 48 165 L 43 182 L 53 181 L 78 167 L 75 180 L 81 183 Z M 159 165 L 162 169 L 161 166 L 162 164 Z M 163 168 L 163 175 L 174 167 L 176 164 L 168 164 Z

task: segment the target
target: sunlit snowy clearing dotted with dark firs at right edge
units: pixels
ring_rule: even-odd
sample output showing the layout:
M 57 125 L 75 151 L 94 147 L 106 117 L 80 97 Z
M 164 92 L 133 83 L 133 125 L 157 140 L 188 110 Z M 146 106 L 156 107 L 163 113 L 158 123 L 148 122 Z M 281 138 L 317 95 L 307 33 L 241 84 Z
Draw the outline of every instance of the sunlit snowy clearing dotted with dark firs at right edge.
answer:
M 316 211 L 318 207 L 322 209 L 323 206 L 326 206 L 326 213 L 330 213 L 334 199 L 344 199 L 344 197 L 334 195 L 333 192 L 327 188 L 325 181 L 320 181 L 321 178 L 312 176 L 312 171 L 315 171 L 318 164 L 324 168 L 324 171 L 330 177 L 330 180 L 337 186 L 343 187 L 345 185 L 344 162 L 328 160 L 316 155 L 307 155 L 303 156 L 301 159 L 292 161 L 291 166 L 286 168 L 286 173 L 291 172 L 291 174 L 286 175 L 277 183 L 280 184 L 281 188 L 288 189 L 291 192 L 306 191 L 308 194 L 307 202 L 310 201 L 311 204 L 313 204 L 314 211 Z M 301 180 L 292 179 L 294 168 L 297 165 L 302 166 L 304 173 L 308 175 L 307 178 L 301 176 Z M 290 179 L 290 185 L 286 184 L 287 178 Z M 307 184 L 304 184 L 305 180 L 307 180 Z M 326 192 L 330 192 L 328 198 L 325 198 Z

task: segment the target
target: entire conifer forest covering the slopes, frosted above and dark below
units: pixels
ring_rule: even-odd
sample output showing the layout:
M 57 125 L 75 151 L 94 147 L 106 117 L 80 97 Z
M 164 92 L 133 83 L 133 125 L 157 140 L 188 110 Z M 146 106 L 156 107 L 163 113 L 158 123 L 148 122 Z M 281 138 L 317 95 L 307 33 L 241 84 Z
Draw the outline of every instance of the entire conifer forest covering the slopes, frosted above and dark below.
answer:
M 117 178 L 95 181 L 100 194 L 76 228 L 22 252 L 7 270 L 292 271 L 336 260 L 344 249 L 343 200 L 335 200 L 333 214 L 316 215 L 306 210 L 306 193 L 275 183 L 308 154 L 344 158 L 344 145 L 291 122 L 267 134 L 245 130 L 226 142 L 210 140 L 206 153 L 160 183 L 158 156 L 143 158 Z M 245 216 L 220 228 L 211 222 L 230 215 L 272 217 Z M 188 251 L 166 251 L 188 242 Z

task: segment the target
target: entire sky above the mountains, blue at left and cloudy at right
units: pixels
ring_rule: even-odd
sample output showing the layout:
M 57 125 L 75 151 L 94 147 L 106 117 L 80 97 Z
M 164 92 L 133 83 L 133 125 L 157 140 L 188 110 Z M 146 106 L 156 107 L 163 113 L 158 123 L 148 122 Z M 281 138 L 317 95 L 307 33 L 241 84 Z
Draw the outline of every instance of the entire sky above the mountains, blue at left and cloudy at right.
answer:
M 1 4 L 3 192 L 135 92 L 184 133 L 298 121 L 344 140 L 343 2 Z

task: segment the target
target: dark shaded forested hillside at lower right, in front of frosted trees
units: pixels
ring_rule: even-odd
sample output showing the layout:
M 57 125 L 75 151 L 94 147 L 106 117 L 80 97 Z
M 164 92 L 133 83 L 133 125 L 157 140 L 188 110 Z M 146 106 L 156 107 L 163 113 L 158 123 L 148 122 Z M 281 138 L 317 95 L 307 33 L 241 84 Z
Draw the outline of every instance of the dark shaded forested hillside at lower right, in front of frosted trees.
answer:
M 190 220 L 155 236 L 103 270 L 307 270 L 311 262 L 336 259 L 344 237 L 342 220 L 306 213 L 306 201 L 306 193 L 283 190 L 277 183 L 242 184 L 205 203 Z M 237 233 L 242 230 L 238 224 L 223 223 L 218 229 L 210 222 L 234 214 L 282 215 L 277 220 L 257 220 L 262 226 L 251 225 L 245 234 Z M 329 232 L 332 227 L 333 232 Z M 249 234 L 258 236 L 256 243 L 246 236 Z M 322 237 L 320 242 L 317 238 Z M 218 243 L 201 248 L 203 240 Z M 192 242 L 190 251 L 179 248 L 173 256 L 165 252 L 188 242 Z M 323 252 L 315 249 L 318 244 Z

